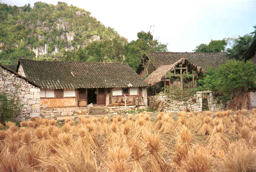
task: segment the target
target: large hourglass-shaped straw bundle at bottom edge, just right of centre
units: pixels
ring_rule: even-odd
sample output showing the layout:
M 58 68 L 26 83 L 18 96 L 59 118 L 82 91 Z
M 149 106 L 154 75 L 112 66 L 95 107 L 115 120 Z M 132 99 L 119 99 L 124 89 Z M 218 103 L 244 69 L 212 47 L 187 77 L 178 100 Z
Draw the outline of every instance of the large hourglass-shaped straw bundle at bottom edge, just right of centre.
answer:
M 159 153 L 163 150 L 163 145 L 160 142 L 159 134 L 151 134 L 147 132 L 143 139 L 144 148 L 148 151 L 146 156 L 144 170 L 145 172 L 161 172 L 167 169 L 167 163 Z

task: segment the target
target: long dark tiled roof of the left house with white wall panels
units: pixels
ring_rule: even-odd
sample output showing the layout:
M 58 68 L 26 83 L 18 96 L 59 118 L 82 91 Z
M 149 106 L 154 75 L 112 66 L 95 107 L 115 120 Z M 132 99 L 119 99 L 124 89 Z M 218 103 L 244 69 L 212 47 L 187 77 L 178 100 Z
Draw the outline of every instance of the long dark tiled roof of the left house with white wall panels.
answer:
M 127 63 L 33 61 L 20 59 L 29 80 L 41 88 L 114 88 L 148 86 Z

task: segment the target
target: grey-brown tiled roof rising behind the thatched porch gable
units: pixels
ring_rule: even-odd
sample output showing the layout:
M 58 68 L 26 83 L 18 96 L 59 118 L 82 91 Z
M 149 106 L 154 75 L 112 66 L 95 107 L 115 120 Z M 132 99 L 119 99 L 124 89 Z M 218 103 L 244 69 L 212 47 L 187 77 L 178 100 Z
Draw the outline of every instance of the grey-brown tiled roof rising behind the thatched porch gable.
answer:
M 213 68 L 225 63 L 228 60 L 226 52 L 153 52 L 147 57 L 157 69 L 159 66 L 171 65 L 181 58 L 186 58 L 191 63 L 207 71 L 207 67 Z

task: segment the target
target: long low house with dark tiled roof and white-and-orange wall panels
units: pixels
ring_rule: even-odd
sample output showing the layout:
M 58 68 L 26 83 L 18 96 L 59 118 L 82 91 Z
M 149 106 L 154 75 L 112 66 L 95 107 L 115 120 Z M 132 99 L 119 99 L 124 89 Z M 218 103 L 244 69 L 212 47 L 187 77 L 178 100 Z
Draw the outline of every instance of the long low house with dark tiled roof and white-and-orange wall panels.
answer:
M 40 87 L 42 113 L 53 108 L 66 108 L 69 112 L 67 108 L 79 109 L 91 103 L 93 106 L 147 106 L 148 103 L 148 84 L 127 63 L 20 59 L 17 73 Z

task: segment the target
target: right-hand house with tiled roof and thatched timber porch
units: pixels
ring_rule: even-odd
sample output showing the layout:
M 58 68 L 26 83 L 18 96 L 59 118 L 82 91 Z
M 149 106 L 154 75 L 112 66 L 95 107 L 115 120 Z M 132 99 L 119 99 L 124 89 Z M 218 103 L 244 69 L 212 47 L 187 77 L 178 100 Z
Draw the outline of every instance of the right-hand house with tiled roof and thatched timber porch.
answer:
M 190 76 L 189 83 L 195 86 L 196 79 L 207 71 L 207 67 L 216 68 L 227 60 L 225 52 L 153 52 L 144 55 L 137 73 L 146 77 L 145 82 L 151 86 L 148 94 L 155 95 L 166 86 L 183 89 L 184 75 Z

